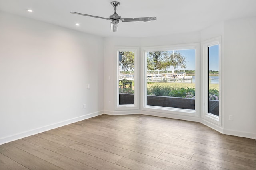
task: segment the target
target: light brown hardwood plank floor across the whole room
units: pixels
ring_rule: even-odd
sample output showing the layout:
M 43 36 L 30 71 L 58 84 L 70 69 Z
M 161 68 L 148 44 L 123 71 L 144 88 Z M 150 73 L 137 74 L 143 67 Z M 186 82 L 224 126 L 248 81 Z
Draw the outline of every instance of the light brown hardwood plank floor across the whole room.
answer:
M 0 170 L 256 170 L 256 142 L 201 123 L 100 115 L 0 145 Z

